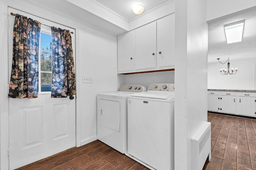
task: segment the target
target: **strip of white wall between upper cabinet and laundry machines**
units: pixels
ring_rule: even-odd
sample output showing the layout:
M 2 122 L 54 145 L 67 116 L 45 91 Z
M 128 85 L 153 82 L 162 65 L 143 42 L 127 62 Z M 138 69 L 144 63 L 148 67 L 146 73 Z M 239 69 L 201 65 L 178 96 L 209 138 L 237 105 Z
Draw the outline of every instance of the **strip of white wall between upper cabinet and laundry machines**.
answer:
M 118 75 L 120 77 L 125 77 L 121 85 L 142 85 L 146 89 L 153 83 L 174 83 L 174 71 Z

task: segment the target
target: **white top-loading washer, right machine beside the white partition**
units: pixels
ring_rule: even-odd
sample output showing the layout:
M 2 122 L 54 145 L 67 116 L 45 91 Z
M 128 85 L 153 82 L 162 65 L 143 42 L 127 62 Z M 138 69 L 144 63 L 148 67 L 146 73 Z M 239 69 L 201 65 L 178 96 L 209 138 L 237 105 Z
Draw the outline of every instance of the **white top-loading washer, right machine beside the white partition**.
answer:
M 174 170 L 174 84 L 128 97 L 126 155 L 152 170 Z

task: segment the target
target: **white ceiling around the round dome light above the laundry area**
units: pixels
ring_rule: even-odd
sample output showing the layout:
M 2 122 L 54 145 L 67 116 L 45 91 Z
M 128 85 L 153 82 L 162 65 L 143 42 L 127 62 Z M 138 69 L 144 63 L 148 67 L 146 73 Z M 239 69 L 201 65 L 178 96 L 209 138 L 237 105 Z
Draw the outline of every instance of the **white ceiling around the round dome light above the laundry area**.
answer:
M 132 7 L 134 5 L 140 4 L 144 7 L 144 12 L 155 8 L 156 6 L 168 1 L 168 0 L 94 0 L 99 4 L 109 8 L 110 10 L 116 12 L 120 16 L 126 18 L 126 20 L 131 20 L 138 16 L 132 12 Z

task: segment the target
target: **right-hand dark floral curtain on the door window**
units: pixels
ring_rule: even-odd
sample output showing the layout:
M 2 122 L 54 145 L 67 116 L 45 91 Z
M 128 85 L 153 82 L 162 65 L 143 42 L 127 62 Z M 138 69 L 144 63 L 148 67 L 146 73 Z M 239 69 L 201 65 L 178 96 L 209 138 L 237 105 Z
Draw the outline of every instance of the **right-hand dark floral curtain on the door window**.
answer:
M 74 99 L 76 77 L 69 30 L 52 28 L 52 97 Z

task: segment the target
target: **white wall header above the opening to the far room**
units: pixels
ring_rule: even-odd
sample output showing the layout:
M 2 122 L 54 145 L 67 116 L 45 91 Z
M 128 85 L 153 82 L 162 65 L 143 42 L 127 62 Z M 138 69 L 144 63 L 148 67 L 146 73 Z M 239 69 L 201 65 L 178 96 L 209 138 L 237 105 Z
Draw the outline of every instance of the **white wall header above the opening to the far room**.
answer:
M 256 6 L 256 0 L 207 0 L 207 21 Z

